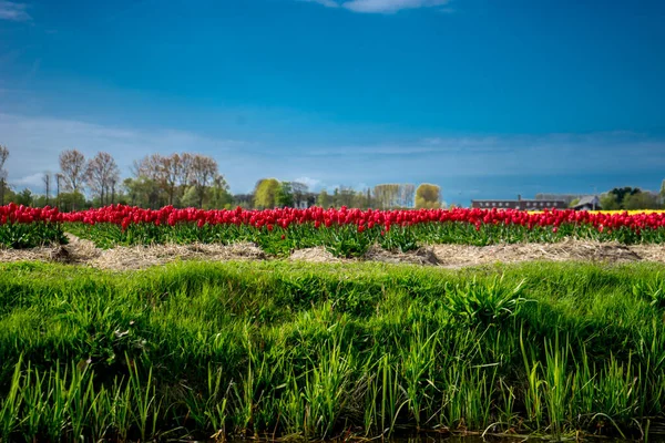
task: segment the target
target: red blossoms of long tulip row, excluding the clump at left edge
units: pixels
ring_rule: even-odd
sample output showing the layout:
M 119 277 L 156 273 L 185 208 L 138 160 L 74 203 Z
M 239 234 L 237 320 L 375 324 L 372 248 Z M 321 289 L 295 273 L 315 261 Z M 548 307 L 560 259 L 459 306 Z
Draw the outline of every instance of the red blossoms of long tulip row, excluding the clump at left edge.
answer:
M 44 210 L 47 215 L 54 209 Z M 665 213 L 633 214 L 618 213 L 591 213 L 576 210 L 544 210 L 542 213 L 528 213 L 523 210 L 505 209 L 419 209 L 419 210 L 377 210 L 377 209 L 323 209 L 311 207 L 308 209 L 266 209 L 266 210 L 203 210 L 195 208 L 176 209 L 166 206 L 162 209 L 142 209 L 114 205 L 101 209 L 90 209 L 78 213 L 60 214 L 63 222 L 79 222 L 90 225 L 111 223 L 126 228 L 131 224 L 149 223 L 154 225 L 174 226 L 181 223 L 196 223 L 204 225 L 249 225 L 257 228 L 280 226 L 287 229 L 294 224 L 311 223 L 316 227 L 321 225 L 356 225 L 360 230 L 383 226 L 389 230 L 391 226 L 412 226 L 427 223 L 466 223 L 475 227 L 481 225 L 519 225 L 526 228 L 535 226 L 559 227 L 565 224 L 591 225 L 600 231 L 627 227 L 635 230 L 658 229 L 665 227 Z

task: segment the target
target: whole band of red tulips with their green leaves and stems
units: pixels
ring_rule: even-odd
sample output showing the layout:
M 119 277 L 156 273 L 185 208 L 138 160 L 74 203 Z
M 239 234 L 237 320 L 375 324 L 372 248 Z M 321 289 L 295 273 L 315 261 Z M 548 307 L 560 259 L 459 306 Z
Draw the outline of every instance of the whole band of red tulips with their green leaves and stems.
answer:
M 484 246 L 553 243 L 566 237 L 623 244 L 665 241 L 665 213 L 497 209 L 142 209 L 112 205 L 60 213 L 57 208 L 0 207 L 0 244 L 24 248 L 62 243 L 63 231 L 114 245 L 253 241 L 267 254 L 324 246 L 336 256 L 357 257 L 375 244 L 412 250 L 426 244 Z

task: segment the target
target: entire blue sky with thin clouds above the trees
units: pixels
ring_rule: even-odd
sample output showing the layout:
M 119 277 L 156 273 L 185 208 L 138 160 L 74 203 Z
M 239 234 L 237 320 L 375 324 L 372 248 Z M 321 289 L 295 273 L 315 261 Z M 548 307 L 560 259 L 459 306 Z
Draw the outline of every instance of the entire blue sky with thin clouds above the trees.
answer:
M 40 190 L 76 147 L 214 156 L 233 192 L 657 189 L 665 2 L 0 0 L 0 143 Z

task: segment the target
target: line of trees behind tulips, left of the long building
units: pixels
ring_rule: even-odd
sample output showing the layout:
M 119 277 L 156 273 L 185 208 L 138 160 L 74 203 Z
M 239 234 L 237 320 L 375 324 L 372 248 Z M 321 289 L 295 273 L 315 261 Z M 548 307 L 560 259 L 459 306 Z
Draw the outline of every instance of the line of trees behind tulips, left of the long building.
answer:
M 121 179 L 113 156 L 99 152 L 86 158 L 78 150 L 65 150 L 59 156 L 59 172 L 43 174 L 44 194 L 29 188 L 14 192 L 7 184 L 4 168 L 9 150 L 0 145 L 0 204 L 9 202 L 27 206 L 58 206 L 61 210 L 126 204 L 145 208 L 198 207 L 204 209 L 274 207 L 358 207 L 358 208 L 437 208 L 441 207 L 441 189 L 437 185 L 379 184 L 357 190 L 338 186 L 331 192 L 310 192 L 306 184 L 262 178 L 250 194 L 232 195 L 219 173 L 217 162 L 205 155 L 174 153 L 151 154 L 133 162 L 131 176 Z

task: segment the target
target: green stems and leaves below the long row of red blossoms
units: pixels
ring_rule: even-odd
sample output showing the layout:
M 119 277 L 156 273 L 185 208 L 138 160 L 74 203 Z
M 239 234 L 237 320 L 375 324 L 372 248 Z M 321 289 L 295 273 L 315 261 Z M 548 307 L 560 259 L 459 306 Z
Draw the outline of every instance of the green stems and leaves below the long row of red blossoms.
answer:
M 93 241 L 100 248 L 132 245 L 223 244 L 250 241 L 267 255 L 287 257 L 294 249 L 325 247 L 337 257 L 361 257 L 372 245 L 387 250 L 407 253 L 426 245 L 458 244 L 488 246 L 518 243 L 556 243 L 569 238 L 632 244 L 663 244 L 665 228 L 636 231 L 630 227 L 614 230 L 598 229 L 587 224 L 563 224 L 554 228 L 545 226 L 505 225 L 483 223 L 478 227 L 471 223 L 442 222 L 421 223 L 411 226 L 393 224 L 388 231 L 383 225 L 365 228 L 361 233 L 355 224 L 321 225 L 311 223 L 291 224 L 288 228 L 250 225 L 205 225 L 178 223 L 175 226 L 152 223 L 130 224 L 126 229 L 110 223 L 88 225 L 63 224 L 63 229 L 80 238 Z

